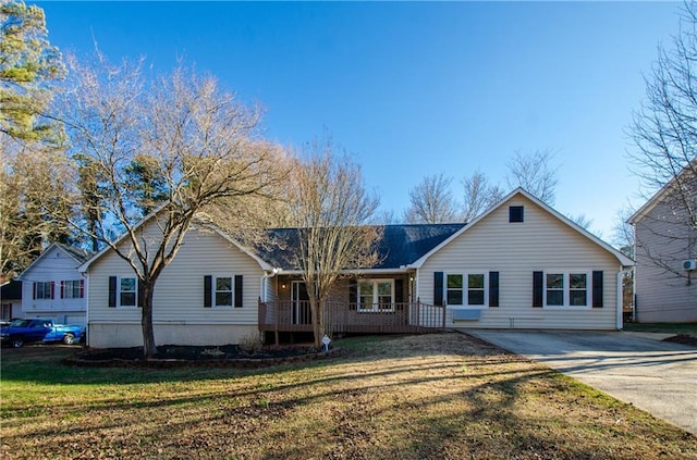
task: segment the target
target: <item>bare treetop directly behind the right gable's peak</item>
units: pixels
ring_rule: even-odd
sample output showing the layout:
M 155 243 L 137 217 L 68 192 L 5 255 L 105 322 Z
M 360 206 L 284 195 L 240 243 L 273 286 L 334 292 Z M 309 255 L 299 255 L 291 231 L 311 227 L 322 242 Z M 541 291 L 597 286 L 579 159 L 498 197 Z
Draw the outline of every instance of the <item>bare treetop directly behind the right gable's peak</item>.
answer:
M 516 151 L 506 163 L 509 187 L 523 187 L 547 204 L 554 206 L 559 166 L 553 161 L 554 152 L 551 150 L 536 150 L 530 154 Z

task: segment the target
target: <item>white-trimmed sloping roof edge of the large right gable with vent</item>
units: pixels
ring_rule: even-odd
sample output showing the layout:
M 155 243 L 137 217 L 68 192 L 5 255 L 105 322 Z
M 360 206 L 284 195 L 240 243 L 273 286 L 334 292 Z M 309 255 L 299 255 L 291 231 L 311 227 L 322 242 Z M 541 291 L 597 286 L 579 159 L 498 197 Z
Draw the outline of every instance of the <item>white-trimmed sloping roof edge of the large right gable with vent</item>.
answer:
M 424 254 L 421 258 L 419 258 L 417 261 L 415 261 L 412 264 L 412 266 L 420 268 L 426 262 L 426 260 L 428 260 L 429 257 L 431 257 L 432 254 L 435 254 L 436 252 L 438 252 L 439 250 L 441 250 L 442 248 L 448 246 L 453 239 L 457 238 L 460 235 L 464 234 L 469 228 L 473 228 L 474 226 L 478 225 L 489 214 L 491 214 L 492 212 L 494 212 L 499 208 L 505 206 L 509 201 L 511 201 L 516 196 L 523 196 L 523 197 L 527 198 L 528 200 L 533 201 L 535 204 L 540 207 L 543 211 L 548 212 L 553 217 L 559 220 L 561 223 L 570 226 L 571 228 L 573 228 L 577 233 L 582 234 L 584 237 L 586 237 L 592 244 L 600 246 L 602 249 L 604 249 L 608 252 L 610 252 L 611 254 L 613 254 L 623 266 L 634 265 L 634 261 L 632 261 L 632 259 L 629 259 L 628 257 L 626 257 L 625 254 L 623 254 L 619 250 L 614 249 L 612 246 L 608 245 L 607 243 L 604 243 L 603 240 L 601 240 L 597 236 L 592 235 L 591 233 L 589 233 L 588 231 L 586 231 L 585 228 L 583 228 L 582 226 L 579 226 L 578 224 L 576 224 L 575 222 L 570 220 L 568 217 L 562 215 L 561 213 L 559 213 L 557 210 L 554 210 L 550 206 L 548 206 L 545 202 L 540 201 L 538 198 L 536 198 L 533 195 L 530 195 L 529 192 L 525 191 L 525 189 L 518 187 L 515 190 L 513 190 L 511 194 L 505 196 L 503 199 L 501 199 L 501 201 L 499 201 L 498 203 L 496 203 L 494 206 L 489 208 L 487 211 L 485 211 L 484 213 L 478 215 L 467 226 L 463 226 L 460 231 L 455 232 L 453 235 L 451 235 L 449 238 L 443 240 L 441 244 L 439 244 L 432 250 L 430 250 L 429 252 Z

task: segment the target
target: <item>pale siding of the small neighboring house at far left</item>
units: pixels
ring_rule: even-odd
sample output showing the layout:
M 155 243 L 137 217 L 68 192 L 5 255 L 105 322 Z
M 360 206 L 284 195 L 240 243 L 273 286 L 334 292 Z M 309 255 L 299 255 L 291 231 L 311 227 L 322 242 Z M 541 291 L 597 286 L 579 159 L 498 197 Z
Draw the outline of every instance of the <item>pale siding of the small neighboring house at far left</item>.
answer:
M 58 246 L 52 246 L 22 274 L 22 315 L 41 316 L 57 323 L 84 326 L 87 324 L 86 299 L 61 298 L 61 282 L 83 279 L 77 271 L 80 262 Z M 34 299 L 35 282 L 53 282 L 52 299 Z M 85 291 L 87 287 L 85 286 Z

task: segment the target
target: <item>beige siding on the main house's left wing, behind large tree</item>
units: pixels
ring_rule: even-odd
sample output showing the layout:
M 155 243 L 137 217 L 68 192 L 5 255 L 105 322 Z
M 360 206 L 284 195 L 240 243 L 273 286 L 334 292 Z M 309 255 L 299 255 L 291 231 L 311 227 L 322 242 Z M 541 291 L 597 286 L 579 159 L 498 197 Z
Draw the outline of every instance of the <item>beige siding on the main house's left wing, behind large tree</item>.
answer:
M 234 278 L 235 275 L 242 275 L 242 308 L 205 308 L 204 276 L 206 275 L 213 276 L 213 279 L 216 276 Z M 216 327 L 234 325 L 247 326 L 243 327 L 245 332 L 255 331 L 258 322 L 258 299 L 262 275 L 264 271 L 257 261 L 220 235 L 198 229 L 189 231 L 184 237 L 184 244 L 179 253 L 164 269 L 155 286 L 152 321 L 156 341 L 158 341 L 158 334 L 171 335 L 175 338 L 178 331 L 180 337 L 189 336 L 191 328 L 195 325 L 203 326 L 197 327 L 198 334 L 203 335 L 201 340 L 208 344 L 212 341 L 208 341 L 206 336 L 212 339 L 216 336 Z M 130 328 L 137 326 L 139 331 L 139 308 L 109 308 L 109 276 L 134 276 L 127 263 L 112 251 L 105 253 L 89 268 L 90 345 L 93 338 L 94 343 L 98 340 L 97 335 L 112 335 L 109 331 L 115 331 L 118 327 L 123 330 L 126 326 Z M 113 327 L 109 330 L 108 325 Z M 189 331 L 186 331 L 187 328 Z M 172 332 L 164 333 L 166 331 Z M 138 340 L 140 339 L 137 332 L 129 331 L 127 335 L 135 335 Z M 101 346 L 105 346 L 105 341 L 113 340 L 99 339 Z

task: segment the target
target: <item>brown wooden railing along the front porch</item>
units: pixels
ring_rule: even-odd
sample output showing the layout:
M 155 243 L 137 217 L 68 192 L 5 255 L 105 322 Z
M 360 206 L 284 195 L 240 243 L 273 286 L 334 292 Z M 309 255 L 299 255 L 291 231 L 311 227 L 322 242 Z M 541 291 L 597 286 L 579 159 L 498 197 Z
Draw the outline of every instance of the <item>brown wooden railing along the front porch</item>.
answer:
M 360 309 L 357 304 L 322 304 L 327 333 L 423 334 L 445 328 L 445 308 L 426 303 L 388 303 Z M 259 331 L 311 332 L 308 301 L 259 301 Z

